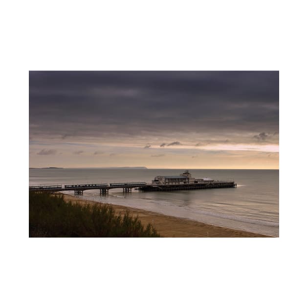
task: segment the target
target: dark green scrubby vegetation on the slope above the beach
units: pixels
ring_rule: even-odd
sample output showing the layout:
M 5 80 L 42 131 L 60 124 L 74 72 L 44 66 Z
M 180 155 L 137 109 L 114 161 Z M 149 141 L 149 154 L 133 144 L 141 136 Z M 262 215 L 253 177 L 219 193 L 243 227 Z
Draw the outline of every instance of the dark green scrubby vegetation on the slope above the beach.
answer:
M 115 215 L 111 206 L 66 202 L 62 195 L 29 192 L 29 237 L 159 237 L 138 217 Z

